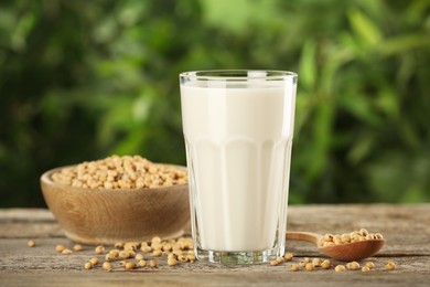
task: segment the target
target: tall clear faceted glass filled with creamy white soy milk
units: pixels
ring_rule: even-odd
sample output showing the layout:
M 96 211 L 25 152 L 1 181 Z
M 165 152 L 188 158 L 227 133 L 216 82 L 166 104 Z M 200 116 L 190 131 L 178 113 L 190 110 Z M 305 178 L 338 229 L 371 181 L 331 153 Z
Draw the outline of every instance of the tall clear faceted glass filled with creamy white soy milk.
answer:
M 197 259 L 283 255 L 297 81 L 283 71 L 180 74 Z

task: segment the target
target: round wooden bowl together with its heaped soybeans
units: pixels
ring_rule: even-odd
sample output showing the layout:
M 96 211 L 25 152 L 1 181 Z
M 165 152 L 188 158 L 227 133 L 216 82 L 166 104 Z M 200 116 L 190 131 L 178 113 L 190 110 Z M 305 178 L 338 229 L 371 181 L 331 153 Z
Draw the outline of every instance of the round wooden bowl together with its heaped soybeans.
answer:
M 186 168 L 110 156 L 41 177 L 46 205 L 65 235 L 99 245 L 179 237 L 190 225 Z

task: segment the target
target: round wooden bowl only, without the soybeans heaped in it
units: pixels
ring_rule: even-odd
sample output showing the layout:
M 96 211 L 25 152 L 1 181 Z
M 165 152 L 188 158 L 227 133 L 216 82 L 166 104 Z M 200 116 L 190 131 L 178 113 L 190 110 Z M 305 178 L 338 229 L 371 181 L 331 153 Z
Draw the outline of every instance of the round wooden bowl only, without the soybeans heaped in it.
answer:
M 153 236 L 168 240 L 181 236 L 190 224 L 189 184 L 92 190 L 54 182 L 51 176 L 61 169 L 43 173 L 41 188 L 72 241 L 97 245 L 150 241 Z

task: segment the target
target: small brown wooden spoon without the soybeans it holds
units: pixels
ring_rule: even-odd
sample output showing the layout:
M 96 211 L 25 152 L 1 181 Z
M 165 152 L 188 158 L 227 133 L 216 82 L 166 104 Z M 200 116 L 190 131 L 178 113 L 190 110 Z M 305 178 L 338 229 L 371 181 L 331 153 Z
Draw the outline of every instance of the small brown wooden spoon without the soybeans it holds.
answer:
M 322 235 L 311 232 L 287 232 L 286 238 L 291 241 L 307 241 L 315 244 L 320 252 L 343 262 L 361 261 L 377 253 L 385 240 L 366 240 L 329 247 L 320 247 L 319 241 Z

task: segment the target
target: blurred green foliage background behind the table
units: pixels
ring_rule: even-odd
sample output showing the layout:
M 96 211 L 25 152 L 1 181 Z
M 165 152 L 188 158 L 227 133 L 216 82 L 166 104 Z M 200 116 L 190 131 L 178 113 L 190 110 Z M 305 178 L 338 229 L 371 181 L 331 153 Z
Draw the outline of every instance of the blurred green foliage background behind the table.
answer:
M 290 203 L 430 201 L 428 0 L 2 0 L 0 208 L 54 167 L 185 164 L 178 74 L 299 73 Z

